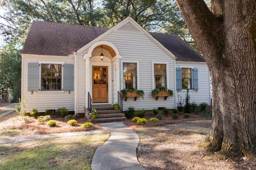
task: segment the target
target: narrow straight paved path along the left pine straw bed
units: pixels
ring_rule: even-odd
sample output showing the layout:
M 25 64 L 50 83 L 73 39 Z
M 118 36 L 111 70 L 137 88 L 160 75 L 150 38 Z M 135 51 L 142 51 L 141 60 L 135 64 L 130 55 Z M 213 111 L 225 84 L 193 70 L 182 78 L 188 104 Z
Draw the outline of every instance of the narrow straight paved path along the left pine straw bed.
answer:
M 97 134 L 101 132 L 106 132 L 106 131 L 97 129 L 97 130 L 83 131 L 83 132 L 66 132 L 66 133 L 59 133 L 59 134 L 39 134 L 39 135 L 31 135 L 31 136 L 8 137 L 8 138 L 0 139 L 0 144 L 7 144 L 7 143 L 15 144 L 15 143 L 34 141 L 39 139 L 81 136 L 81 135 Z

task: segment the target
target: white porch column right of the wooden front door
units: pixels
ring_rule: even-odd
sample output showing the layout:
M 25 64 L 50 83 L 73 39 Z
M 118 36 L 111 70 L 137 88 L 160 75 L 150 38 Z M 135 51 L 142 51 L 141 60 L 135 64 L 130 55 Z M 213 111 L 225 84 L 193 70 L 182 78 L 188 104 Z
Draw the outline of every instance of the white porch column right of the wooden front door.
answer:
M 120 59 L 113 57 L 113 103 L 118 103 L 118 91 L 120 91 Z

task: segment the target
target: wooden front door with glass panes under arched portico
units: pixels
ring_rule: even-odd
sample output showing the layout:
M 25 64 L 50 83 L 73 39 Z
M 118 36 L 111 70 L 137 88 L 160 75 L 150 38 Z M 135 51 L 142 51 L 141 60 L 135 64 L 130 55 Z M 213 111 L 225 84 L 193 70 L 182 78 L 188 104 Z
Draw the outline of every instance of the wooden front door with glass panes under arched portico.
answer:
M 92 103 L 108 103 L 108 66 L 92 66 Z

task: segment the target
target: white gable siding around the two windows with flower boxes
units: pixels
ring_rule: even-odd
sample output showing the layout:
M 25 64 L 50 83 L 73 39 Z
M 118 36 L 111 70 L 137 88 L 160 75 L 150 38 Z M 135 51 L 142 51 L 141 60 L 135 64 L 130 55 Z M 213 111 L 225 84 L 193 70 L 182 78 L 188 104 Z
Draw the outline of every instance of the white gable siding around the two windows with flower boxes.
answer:
M 152 61 L 164 61 L 169 63 L 169 87 L 175 93 L 175 72 L 174 60 L 167 55 L 158 45 L 151 41 L 148 36 L 143 33 L 113 31 L 111 34 L 104 37 L 102 40 L 110 41 L 118 48 L 122 59 L 121 60 L 138 60 L 140 65 L 140 90 L 145 92 L 145 100 L 142 98 L 128 98 L 123 101 L 123 108 L 129 106 L 135 108 L 145 108 L 152 110 L 158 107 L 175 107 L 175 97 L 168 97 L 165 101 L 163 97 L 159 97 L 158 101 L 151 96 L 152 87 Z M 120 70 L 122 75 L 122 68 Z M 120 82 L 123 84 L 123 82 Z

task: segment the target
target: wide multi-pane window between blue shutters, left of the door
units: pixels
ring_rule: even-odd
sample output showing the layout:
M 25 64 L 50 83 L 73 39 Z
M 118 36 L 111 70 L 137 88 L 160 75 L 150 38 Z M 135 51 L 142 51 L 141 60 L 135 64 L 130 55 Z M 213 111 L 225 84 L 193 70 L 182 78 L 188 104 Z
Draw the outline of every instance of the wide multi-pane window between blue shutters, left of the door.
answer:
M 62 89 L 62 65 L 42 64 L 41 65 L 41 90 Z

